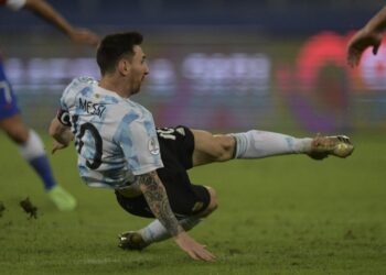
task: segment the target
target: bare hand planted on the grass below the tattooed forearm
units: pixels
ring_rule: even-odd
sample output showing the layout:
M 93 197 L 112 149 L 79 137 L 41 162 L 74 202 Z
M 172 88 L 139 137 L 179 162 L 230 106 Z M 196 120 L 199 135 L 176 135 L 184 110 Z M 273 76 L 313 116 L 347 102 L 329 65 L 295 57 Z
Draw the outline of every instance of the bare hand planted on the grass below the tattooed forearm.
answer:
M 211 262 L 216 258 L 206 250 L 205 245 L 197 243 L 186 232 L 179 233 L 174 240 L 176 244 L 194 260 Z

